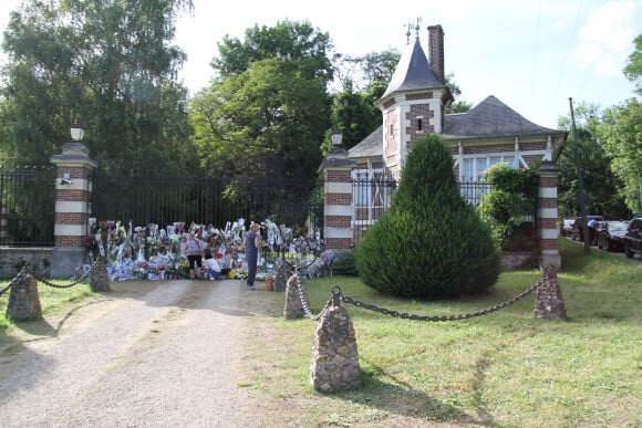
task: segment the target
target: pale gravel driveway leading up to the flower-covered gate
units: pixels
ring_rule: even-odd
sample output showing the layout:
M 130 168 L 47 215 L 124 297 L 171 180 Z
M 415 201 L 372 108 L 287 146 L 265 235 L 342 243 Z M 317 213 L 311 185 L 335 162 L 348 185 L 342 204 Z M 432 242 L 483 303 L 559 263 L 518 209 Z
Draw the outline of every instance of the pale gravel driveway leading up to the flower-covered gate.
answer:
M 138 284 L 0 356 L 1 427 L 253 425 L 236 372 L 242 283 Z

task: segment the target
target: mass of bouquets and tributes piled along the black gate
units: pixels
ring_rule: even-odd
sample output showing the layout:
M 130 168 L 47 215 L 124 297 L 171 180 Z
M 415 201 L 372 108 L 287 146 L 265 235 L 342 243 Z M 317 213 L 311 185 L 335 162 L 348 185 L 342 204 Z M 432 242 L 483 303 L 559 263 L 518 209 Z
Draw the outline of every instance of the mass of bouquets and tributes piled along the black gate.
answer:
M 105 260 L 111 281 L 186 279 L 189 263 L 183 243 L 189 232 L 209 248 L 224 274 L 229 279 L 247 278 L 245 249 L 245 219 L 228 221 L 225 228 L 213 225 L 187 225 L 176 221 L 161 228 L 157 223 L 134 226 L 113 220 L 90 220 L 90 234 L 85 239 L 90 262 L 97 257 Z M 261 222 L 262 247 L 259 252 L 261 280 L 273 275 L 279 259 L 290 263 L 311 263 L 321 252 L 319 230 L 277 226 L 270 220 Z

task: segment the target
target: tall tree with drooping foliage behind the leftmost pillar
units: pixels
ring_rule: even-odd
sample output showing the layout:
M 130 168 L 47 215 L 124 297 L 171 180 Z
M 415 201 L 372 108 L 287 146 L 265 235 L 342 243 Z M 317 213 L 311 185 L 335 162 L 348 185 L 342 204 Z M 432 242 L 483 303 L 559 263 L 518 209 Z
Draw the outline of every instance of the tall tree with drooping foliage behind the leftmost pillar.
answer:
M 183 169 L 190 159 L 185 54 L 170 44 L 190 0 L 28 1 L 11 13 L 3 50 L 6 150 L 48 164 L 76 121 L 101 168 Z

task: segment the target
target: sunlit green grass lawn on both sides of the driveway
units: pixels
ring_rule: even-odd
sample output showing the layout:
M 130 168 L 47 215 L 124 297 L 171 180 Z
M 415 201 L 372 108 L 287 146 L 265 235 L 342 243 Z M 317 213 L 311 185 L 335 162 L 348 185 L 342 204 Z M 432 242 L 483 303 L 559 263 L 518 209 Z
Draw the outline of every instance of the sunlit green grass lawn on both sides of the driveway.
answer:
M 334 395 L 314 392 L 308 378 L 317 322 L 284 320 L 282 293 L 245 293 L 257 315 L 247 319 L 238 386 L 283 426 L 642 426 L 642 263 L 559 243 L 567 321 L 536 320 L 534 294 L 449 322 L 395 319 L 342 302 L 355 328 L 363 387 Z M 439 302 L 382 296 L 356 278 L 306 286 L 314 313 L 339 285 L 344 295 L 390 310 L 453 315 L 507 301 L 540 278 L 536 270 L 507 272 L 484 296 Z M 83 288 L 39 288 L 43 312 L 90 299 Z M 7 301 L 0 297 L 0 342 L 12 328 L 3 319 Z

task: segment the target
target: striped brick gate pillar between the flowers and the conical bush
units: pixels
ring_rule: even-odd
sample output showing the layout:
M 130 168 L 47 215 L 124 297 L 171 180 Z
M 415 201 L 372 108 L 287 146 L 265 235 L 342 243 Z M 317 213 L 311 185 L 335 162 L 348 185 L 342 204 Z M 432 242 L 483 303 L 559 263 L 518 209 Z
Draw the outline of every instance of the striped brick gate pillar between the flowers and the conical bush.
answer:
M 323 173 L 323 242 L 327 250 L 341 252 L 353 246 L 352 177 L 354 163 L 348 150 L 334 148 L 319 168 Z

